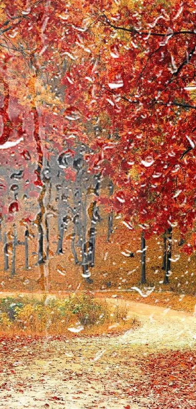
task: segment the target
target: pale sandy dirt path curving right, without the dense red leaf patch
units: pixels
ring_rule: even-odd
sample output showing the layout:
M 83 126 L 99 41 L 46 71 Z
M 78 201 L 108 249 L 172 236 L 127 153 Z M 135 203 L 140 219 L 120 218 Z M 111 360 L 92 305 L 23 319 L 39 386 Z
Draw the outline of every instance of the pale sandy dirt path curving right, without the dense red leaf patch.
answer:
M 151 408 L 153 397 L 150 393 L 141 397 L 135 386 L 147 382 L 143 360 L 150 360 L 156 351 L 193 349 L 196 318 L 146 304 L 107 301 L 126 305 L 128 315 L 138 316 L 141 327 L 119 336 L 49 338 L 42 344 L 24 345 L 22 353 L 14 346 L 1 377 L 3 409 Z

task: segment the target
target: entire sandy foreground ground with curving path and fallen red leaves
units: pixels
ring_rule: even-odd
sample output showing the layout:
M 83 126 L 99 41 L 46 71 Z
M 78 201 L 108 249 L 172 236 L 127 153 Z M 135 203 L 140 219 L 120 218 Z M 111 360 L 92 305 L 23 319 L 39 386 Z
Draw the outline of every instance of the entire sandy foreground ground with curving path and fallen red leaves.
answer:
M 0 339 L 3 409 L 195 409 L 194 313 L 109 298 L 141 326 L 119 335 Z

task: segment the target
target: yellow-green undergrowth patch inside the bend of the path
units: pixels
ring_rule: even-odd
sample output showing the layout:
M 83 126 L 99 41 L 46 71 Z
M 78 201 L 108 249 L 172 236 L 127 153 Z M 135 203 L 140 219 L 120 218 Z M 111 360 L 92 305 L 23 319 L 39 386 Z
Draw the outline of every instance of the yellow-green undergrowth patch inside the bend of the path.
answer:
M 114 332 L 136 325 L 136 319 L 127 319 L 126 315 L 125 307 L 108 306 L 106 300 L 96 300 L 85 293 L 63 299 L 6 297 L 0 300 L 0 332 L 60 335 Z

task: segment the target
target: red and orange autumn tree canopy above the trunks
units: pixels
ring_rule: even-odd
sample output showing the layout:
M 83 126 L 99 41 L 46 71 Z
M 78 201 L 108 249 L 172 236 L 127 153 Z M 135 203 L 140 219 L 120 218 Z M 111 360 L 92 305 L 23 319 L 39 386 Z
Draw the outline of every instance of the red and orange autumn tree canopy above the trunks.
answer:
M 15 135 L 23 141 L 4 145 L 1 163 L 14 149 L 28 172 L 32 152 L 29 179 L 41 185 L 45 151 L 86 143 L 89 170 L 115 186 L 102 201 L 128 228 L 137 222 L 146 236 L 193 229 L 195 27 L 190 0 L 4 0 L 1 148 Z M 193 232 L 184 250 L 195 246 Z

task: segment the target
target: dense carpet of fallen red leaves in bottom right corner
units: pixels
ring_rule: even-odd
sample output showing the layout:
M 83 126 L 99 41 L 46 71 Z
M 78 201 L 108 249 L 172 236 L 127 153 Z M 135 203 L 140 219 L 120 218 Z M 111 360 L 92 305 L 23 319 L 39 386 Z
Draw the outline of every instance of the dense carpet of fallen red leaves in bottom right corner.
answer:
M 154 400 L 151 409 L 196 408 L 196 351 L 164 351 L 138 365 L 143 372 L 141 394 Z

